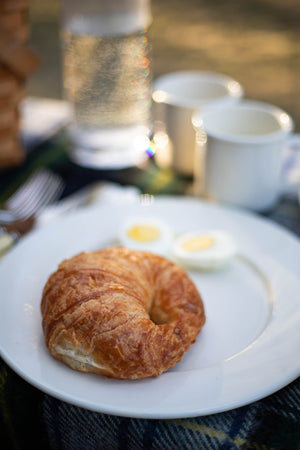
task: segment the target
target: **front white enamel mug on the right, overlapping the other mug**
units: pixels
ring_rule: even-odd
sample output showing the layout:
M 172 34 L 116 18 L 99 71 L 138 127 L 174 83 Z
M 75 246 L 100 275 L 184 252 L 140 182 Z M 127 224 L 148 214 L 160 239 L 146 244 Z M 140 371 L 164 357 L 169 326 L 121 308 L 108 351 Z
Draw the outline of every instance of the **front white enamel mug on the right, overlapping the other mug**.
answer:
M 244 100 L 193 115 L 196 130 L 195 193 L 254 211 L 267 211 L 289 189 L 283 154 L 300 137 L 282 109 Z

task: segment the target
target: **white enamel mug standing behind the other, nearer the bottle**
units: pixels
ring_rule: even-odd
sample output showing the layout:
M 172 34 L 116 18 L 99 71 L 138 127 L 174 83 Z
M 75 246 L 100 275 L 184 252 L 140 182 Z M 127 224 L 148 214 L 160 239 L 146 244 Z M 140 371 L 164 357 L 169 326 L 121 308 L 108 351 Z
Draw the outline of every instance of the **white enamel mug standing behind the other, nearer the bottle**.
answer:
M 196 110 L 236 103 L 243 95 L 232 78 L 211 72 L 173 72 L 153 84 L 153 141 L 155 158 L 162 167 L 193 175 Z

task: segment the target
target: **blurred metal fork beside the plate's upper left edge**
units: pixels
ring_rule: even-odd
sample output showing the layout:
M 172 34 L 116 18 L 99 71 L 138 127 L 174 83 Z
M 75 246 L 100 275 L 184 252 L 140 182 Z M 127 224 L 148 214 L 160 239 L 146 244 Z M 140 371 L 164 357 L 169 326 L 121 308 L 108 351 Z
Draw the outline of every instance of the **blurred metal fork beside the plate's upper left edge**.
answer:
M 0 223 L 25 220 L 57 200 L 63 190 L 61 177 L 47 169 L 37 170 L 3 205 Z

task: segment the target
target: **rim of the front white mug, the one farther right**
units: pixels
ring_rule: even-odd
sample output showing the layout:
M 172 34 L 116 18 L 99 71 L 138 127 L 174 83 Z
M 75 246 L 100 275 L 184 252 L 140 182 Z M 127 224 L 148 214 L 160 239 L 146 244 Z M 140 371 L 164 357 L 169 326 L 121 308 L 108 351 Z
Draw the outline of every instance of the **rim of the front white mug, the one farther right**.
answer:
M 231 111 L 259 111 L 270 114 L 278 122 L 278 130 L 267 132 L 265 134 L 237 134 L 226 131 L 215 130 L 214 127 L 205 124 L 205 120 L 214 114 L 228 115 Z M 283 109 L 270 103 L 260 102 L 256 100 L 242 100 L 234 105 L 223 106 L 220 108 L 204 108 L 197 110 L 192 116 L 192 125 L 197 131 L 204 131 L 207 135 L 219 140 L 235 143 L 264 143 L 278 141 L 284 138 L 294 129 L 294 121 L 292 117 Z

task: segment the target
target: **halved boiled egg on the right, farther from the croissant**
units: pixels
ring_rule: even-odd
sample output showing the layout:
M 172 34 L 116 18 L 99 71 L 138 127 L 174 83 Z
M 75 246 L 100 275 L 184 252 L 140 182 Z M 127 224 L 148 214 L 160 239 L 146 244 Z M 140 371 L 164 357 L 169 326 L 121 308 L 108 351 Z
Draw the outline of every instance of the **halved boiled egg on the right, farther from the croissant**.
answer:
M 173 242 L 174 259 L 186 268 L 213 270 L 225 266 L 236 254 L 233 238 L 224 231 L 193 231 Z

